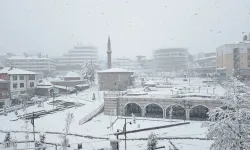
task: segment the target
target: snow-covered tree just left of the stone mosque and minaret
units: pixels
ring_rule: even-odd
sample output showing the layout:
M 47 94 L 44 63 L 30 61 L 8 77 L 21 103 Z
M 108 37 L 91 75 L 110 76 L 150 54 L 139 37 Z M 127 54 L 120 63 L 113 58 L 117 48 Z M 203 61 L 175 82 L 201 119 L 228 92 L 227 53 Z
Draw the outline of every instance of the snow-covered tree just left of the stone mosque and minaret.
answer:
M 82 67 L 81 75 L 83 79 L 87 79 L 90 82 L 95 81 L 95 68 L 94 65 L 91 63 L 86 62 L 85 65 Z

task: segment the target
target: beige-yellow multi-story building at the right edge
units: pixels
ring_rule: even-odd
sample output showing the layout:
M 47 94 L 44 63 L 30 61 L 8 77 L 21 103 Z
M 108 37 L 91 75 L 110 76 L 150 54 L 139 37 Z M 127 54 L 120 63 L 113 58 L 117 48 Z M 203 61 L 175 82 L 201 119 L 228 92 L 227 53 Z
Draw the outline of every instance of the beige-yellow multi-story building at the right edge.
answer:
M 224 68 L 228 75 L 248 75 L 250 70 L 250 42 L 225 44 L 216 49 L 217 68 Z

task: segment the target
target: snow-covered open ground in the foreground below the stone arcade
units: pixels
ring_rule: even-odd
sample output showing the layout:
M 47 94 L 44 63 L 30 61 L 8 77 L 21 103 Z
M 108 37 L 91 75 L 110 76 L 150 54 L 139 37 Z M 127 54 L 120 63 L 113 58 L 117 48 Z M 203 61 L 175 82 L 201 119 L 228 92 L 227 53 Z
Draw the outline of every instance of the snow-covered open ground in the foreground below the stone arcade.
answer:
M 93 93 L 96 95 L 96 100 L 92 101 Z M 97 87 L 92 87 L 86 91 L 75 94 L 57 97 L 55 100 L 64 100 L 69 102 L 76 102 L 84 104 L 81 107 L 69 108 L 64 111 L 60 111 L 54 114 L 45 115 L 35 120 L 35 131 L 38 132 L 63 132 L 65 126 L 65 117 L 68 112 L 73 113 L 74 120 L 70 128 L 70 133 L 78 135 L 70 135 L 69 141 L 72 145 L 69 149 L 76 149 L 77 143 L 83 143 L 83 149 L 100 149 L 108 147 L 110 145 L 109 137 L 112 133 L 116 132 L 117 129 L 122 130 L 124 126 L 124 119 L 118 119 L 113 127 L 110 127 L 117 117 L 116 116 L 105 116 L 103 113 L 93 118 L 91 121 L 79 125 L 79 120 L 84 118 L 86 115 L 91 113 L 93 110 L 98 108 L 103 103 L 103 93 L 98 92 Z M 46 101 L 43 107 L 31 106 L 27 108 L 27 113 L 40 110 L 51 110 L 52 105 L 48 105 L 52 99 Z M 18 111 L 19 115 L 23 114 L 22 110 Z M 11 121 L 17 118 L 14 112 L 9 113 L 8 116 L 0 116 L 0 130 L 3 131 L 25 131 L 24 120 Z M 127 119 L 127 122 L 132 119 Z M 167 120 L 167 119 L 153 119 L 153 118 L 136 118 L 136 123 L 127 125 L 127 131 L 142 129 L 148 127 L 156 127 L 169 125 L 174 123 L 181 123 L 183 120 Z M 162 128 L 153 130 L 158 138 L 169 138 L 169 137 L 187 137 L 187 138 L 205 138 L 206 128 L 201 128 L 202 122 L 190 122 L 190 124 L 176 126 L 171 128 Z M 108 128 L 110 127 L 110 128 Z M 29 124 L 29 131 L 32 132 L 32 125 Z M 146 149 L 147 141 L 139 140 L 140 138 L 147 138 L 151 131 L 143 131 L 138 133 L 127 134 L 127 147 L 129 150 Z M 0 132 L 0 142 L 3 141 L 5 133 Z M 24 133 L 12 133 L 18 141 L 24 141 Z M 84 137 L 81 137 L 84 136 Z M 95 137 L 97 139 L 91 139 L 86 136 Z M 104 139 L 103 139 L 104 138 Z M 124 135 L 119 136 L 120 139 L 124 139 Z M 30 134 L 30 140 L 33 140 L 33 135 Z M 39 135 L 36 134 L 36 139 L 39 139 Z M 46 134 L 46 141 L 51 143 L 60 143 L 61 139 L 59 134 Z M 178 139 L 171 140 L 176 146 L 183 150 L 208 150 L 212 141 L 208 140 L 197 140 L 197 139 Z M 166 146 L 168 149 L 169 142 L 167 139 L 159 140 L 159 146 Z M 24 148 L 25 144 L 19 144 L 18 148 Z M 3 149 L 3 146 L 0 146 Z M 54 146 L 49 147 L 55 149 Z M 120 142 L 120 149 L 124 149 L 124 140 Z

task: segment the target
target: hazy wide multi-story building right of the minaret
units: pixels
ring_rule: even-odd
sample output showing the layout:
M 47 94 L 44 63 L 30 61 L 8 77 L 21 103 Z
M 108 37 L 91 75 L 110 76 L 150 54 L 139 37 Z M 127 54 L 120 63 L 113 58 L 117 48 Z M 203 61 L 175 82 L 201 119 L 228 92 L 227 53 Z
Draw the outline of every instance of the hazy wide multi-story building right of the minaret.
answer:
M 185 48 L 158 49 L 153 52 L 156 72 L 170 72 L 188 67 L 188 50 Z

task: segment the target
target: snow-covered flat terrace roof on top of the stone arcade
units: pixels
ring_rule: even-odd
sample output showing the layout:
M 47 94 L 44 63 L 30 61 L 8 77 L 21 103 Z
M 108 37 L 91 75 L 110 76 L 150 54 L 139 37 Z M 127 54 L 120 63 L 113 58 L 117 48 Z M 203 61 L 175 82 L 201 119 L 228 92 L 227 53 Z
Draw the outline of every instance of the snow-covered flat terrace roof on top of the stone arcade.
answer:
M 211 99 L 214 100 L 215 96 L 223 96 L 225 90 L 220 84 L 213 82 L 204 83 L 207 79 L 204 78 L 191 78 L 189 81 L 183 79 L 169 79 L 166 84 L 157 84 L 154 80 L 148 82 L 156 83 L 155 90 L 149 90 L 145 94 L 144 88 L 134 88 L 127 91 L 127 95 L 122 97 L 137 97 L 137 98 L 192 98 L 192 99 Z M 162 86 L 166 85 L 166 86 Z M 144 94 L 141 94 L 144 93 Z M 109 95 L 109 94 L 107 94 Z M 111 96 L 112 97 L 112 96 Z

